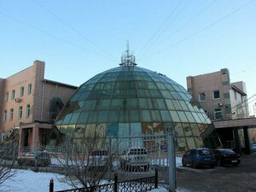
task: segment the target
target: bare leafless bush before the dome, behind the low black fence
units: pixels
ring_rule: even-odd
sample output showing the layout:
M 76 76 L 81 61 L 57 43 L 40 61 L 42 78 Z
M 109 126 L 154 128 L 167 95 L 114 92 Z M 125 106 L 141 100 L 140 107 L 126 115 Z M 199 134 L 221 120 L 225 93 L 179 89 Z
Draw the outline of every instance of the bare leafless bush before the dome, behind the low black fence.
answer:
M 113 143 L 101 135 L 90 134 L 87 137 L 65 137 L 63 155 L 56 159 L 65 167 L 67 183 L 73 188 L 84 188 L 84 191 L 95 191 L 102 179 L 113 166 Z

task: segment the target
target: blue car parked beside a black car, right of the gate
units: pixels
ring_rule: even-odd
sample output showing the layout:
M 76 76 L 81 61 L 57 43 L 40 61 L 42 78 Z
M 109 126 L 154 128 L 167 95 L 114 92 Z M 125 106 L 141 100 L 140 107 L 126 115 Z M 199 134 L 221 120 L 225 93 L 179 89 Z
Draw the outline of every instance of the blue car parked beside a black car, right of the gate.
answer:
M 193 148 L 183 154 L 183 166 L 216 166 L 216 159 L 211 149 L 209 148 Z

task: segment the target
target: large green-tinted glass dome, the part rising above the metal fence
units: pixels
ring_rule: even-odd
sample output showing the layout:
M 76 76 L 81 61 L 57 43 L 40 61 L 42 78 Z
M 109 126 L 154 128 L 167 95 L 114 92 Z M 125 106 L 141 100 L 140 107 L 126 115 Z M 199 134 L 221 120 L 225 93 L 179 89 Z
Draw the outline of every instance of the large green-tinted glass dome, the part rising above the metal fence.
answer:
M 219 146 L 211 120 L 183 86 L 136 64 L 120 64 L 82 84 L 55 126 L 74 138 L 81 131 L 85 137 L 91 131 L 102 137 L 173 131 L 177 151 Z

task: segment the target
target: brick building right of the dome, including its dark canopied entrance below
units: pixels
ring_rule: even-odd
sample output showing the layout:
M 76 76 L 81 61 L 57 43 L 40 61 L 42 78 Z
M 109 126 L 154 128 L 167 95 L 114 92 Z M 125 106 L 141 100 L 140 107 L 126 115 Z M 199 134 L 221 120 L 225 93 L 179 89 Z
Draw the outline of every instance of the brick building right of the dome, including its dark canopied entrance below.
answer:
M 249 117 L 246 84 L 231 83 L 227 68 L 187 77 L 191 96 L 212 119 L 224 147 L 249 152 L 255 143 L 256 119 Z

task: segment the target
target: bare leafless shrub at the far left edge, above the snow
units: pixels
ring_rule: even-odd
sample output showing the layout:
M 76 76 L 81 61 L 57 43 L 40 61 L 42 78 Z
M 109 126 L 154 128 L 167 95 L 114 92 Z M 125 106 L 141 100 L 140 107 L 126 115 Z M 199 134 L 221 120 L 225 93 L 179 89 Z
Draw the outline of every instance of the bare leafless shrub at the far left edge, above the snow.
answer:
M 17 172 L 14 166 L 18 154 L 18 134 L 19 131 L 12 131 L 10 136 L 0 143 L 0 186 Z

